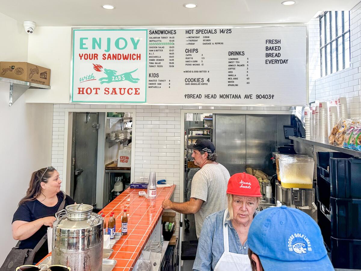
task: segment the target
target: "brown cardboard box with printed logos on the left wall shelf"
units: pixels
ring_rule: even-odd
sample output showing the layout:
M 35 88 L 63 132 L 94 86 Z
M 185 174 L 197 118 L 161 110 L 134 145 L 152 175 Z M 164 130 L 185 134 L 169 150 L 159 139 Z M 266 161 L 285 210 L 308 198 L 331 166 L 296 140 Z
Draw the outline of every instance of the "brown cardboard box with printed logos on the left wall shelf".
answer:
M 50 69 L 27 62 L 0 62 L 0 77 L 50 85 Z

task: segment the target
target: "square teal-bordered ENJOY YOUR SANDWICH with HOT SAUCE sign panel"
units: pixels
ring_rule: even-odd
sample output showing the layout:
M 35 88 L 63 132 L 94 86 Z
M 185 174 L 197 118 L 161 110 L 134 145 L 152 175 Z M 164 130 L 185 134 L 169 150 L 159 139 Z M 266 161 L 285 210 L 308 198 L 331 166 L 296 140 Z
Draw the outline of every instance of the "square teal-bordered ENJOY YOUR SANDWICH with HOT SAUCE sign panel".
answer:
M 72 31 L 71 102 L 146 102 L 147 30 Z

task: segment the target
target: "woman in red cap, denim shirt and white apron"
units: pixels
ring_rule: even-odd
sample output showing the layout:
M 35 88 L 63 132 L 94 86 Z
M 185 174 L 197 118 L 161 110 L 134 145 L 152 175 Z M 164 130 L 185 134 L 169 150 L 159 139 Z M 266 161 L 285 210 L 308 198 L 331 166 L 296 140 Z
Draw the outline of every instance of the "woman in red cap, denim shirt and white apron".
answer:
M 251 271 L 247 235 L 262 199 L 260 184 L 247 173 L 232 175 L 227 186 L 228 207 L 204 220 L 194 271 Z

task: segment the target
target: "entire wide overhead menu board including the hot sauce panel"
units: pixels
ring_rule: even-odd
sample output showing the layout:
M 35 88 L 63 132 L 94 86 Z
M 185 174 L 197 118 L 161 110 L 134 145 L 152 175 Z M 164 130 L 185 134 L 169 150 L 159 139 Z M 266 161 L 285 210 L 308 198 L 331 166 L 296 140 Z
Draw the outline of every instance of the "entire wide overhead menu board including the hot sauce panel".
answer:
M 304 106 L 306 26 L 73 29 L 72 81 L 71 102 Z

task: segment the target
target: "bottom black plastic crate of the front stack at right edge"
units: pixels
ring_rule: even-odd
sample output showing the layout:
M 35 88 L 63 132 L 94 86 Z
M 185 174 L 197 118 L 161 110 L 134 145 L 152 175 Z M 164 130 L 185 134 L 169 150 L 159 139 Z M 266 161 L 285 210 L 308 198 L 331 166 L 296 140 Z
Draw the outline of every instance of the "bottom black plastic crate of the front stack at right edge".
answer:
M 361 269 L 361 240 L 331 237 L 331 262 L 334 268 Z

